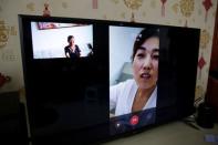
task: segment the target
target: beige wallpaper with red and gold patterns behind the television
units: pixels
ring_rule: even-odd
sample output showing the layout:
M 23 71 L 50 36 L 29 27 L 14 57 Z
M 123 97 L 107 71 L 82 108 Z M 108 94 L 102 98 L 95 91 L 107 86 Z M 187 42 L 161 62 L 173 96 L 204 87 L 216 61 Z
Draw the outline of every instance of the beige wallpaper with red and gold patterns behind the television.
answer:
M 0 83 L 1 77 L 10 77 L 0 92 L 23 87 L 18 14 L 50 14 L 199 28 L 196 99 L 201 97 L 207 87 L 216 9 L 217 0 L 0 0 Z

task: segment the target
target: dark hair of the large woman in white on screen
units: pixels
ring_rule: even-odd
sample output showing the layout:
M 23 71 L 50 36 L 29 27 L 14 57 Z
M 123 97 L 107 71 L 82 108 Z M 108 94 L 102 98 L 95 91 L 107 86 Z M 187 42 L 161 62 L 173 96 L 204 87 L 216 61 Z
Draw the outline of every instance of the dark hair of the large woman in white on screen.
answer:
M 159 38 L 159 29 L 158 28 L 145 28 L 143 29 L 138 35 L 135 39 L 135 43 L 133 46 L 133 55 L 132 55 L 132 62 L 134 60 L 134 56 L 137 52 L 137 50 L 141 48 L 141 45 L 149 38 Z

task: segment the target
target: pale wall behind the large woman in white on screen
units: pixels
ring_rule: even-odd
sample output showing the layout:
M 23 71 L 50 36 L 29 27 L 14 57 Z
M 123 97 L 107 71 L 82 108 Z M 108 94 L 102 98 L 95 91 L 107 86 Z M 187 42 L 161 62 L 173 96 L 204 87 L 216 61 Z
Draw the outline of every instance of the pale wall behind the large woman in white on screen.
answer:
M 133 44 L 143 28 L 110 27 L 110 84 L 132 75 Z M 124 76 L 125 75 L 125 76 Z

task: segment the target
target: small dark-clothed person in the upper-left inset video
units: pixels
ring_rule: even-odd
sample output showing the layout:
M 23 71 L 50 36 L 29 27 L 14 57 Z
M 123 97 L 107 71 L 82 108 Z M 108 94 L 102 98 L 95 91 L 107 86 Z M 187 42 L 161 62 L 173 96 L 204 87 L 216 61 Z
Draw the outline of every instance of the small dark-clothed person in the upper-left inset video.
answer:
M 80 48 L 74 43 L 74 37 L 69 35 L 68 37 L 69 45 L 64 48 L 65 56 L 66 58 L 80 58 L 81 50 Z

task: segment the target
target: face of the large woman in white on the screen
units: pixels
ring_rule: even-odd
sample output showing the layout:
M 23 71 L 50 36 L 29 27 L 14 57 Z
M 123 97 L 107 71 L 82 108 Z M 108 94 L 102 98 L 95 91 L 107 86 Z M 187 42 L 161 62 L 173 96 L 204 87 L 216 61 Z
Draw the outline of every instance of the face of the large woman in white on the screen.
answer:
M 133 74 L 139 89 L 152 89 L 156 86 L 158 79 L 159 39 L 156 37 L 147 39 L 133 60 Z

